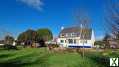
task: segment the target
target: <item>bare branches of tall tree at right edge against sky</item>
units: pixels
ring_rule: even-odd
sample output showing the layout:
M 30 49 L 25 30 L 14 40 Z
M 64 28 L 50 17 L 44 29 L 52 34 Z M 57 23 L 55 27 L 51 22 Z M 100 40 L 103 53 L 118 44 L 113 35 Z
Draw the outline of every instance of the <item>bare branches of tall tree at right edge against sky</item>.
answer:
M 119 39 L 119 0 L 107 1 L 105 20 L 109 33 Z

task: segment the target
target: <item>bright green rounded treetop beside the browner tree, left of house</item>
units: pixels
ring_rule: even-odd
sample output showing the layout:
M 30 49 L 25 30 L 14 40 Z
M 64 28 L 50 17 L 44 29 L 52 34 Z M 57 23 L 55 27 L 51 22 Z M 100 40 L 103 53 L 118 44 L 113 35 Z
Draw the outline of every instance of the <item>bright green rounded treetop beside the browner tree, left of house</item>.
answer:
M 49 41 L 49 40 L 52 40 L 53 38 L 52 32 L 49 29 L 45 29 L 45 28 L 38 29 L 37 34 L 38 34 L 38 37 L 37 37 L 38 40 L 42 39 L 44 41 Z

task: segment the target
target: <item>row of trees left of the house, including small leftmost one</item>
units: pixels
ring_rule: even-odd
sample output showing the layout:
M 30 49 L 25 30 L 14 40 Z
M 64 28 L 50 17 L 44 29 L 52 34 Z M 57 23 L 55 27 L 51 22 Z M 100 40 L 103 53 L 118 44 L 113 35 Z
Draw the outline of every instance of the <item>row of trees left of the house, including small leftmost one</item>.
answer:
M 6 46 L 8 46 L 13 45 L 13 43 L 15 42 L 16 45 L 23 45 L 24 47 L 32 47 L 37 43 L 40 47 L 44 47 L 46 46 L 45 42 L 52 39 L 53 34 L 47 28 L 38 30 L 28 29 L 20 33 L 17 37 L 17 40 L 15 40 L 14 37 L 11 35 L 6 35 L 4 40 L 1 40 L 0 43 L 4 43 Z

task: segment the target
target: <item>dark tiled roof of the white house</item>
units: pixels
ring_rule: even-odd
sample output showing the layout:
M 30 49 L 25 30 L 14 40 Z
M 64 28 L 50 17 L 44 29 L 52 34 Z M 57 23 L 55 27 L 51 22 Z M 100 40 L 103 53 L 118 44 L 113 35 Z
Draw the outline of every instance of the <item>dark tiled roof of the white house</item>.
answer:
M 82 33 L 81 33 L 82 31 Z M 82 29 L 80 27 L 70 27 L 70 28 L 64 28 L 61 32 L 61 34 L 67 34 L 67 33 L 77 33 L 77 36 L 81 36 L 81 39 L 91 39 L 92 29 Z M 59 35 L 59 37 L 60 37 Z M 84 37 L 83 37 L 84 36 Z

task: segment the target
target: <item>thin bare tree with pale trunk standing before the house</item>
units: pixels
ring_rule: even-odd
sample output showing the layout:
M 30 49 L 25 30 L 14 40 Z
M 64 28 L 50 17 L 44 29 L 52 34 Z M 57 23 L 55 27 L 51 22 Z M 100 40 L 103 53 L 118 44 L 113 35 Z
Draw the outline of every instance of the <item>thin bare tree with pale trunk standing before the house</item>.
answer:
M 85 41 L 87 41 L 87 37 L 90 36 L 90 27 L 91 27 L 91 21 L 90 17 L 88 16 L 87 12 L 83 10 L 77 10 L 75 12 L 75 18 L 76 18 L 76 26 L 80 27 L 80 38 L 82 40 L 83 44 L 83 51 L 82 56 L 84 57 L 85 54 Z

